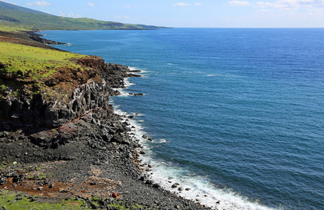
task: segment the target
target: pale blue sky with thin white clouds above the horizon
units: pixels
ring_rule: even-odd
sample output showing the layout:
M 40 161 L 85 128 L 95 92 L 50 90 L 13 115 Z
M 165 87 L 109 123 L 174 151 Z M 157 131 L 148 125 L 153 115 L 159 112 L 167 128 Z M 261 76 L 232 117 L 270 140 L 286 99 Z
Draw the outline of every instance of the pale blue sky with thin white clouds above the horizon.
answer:
M 70 18 L 165 27 L 324 27 L 324 0 L 0 0 Z

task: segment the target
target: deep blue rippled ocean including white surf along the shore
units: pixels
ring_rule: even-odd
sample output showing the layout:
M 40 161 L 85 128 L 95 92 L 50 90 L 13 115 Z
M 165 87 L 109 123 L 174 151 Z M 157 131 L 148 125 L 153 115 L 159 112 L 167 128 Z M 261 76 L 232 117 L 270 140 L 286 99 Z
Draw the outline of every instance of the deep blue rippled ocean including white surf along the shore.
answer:
M 164 188 L 217 209 L 324 209 L 324 29 L 41 34 L 142 71 L 112 104 L 153 139 L 141 158 Z

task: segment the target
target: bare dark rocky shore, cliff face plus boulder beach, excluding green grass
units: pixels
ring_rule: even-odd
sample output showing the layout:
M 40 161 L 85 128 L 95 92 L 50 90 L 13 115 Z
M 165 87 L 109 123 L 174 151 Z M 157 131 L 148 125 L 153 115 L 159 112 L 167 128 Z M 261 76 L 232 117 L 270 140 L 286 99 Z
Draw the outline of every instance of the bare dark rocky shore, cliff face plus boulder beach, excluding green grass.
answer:
M 44 81 L 52 87 L 77 80 L 66 97 L 41 92 L 1 99 L 0 190 L 36 195 L 30 202 L 83 200 L 91 209 L 120 209 L 112 205 L 119 202 L 128 209 L 207 209 L 143 176 L 141 144 L 108 102 L 138 72 L 96 56 L 77 63 L 90 70 Z

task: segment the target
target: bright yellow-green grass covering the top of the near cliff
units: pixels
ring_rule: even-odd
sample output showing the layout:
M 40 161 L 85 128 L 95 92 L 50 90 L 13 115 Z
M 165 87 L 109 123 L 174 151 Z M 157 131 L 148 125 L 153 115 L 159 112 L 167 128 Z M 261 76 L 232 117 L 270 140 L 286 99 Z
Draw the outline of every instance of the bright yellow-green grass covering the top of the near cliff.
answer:
M 0 48 L 0 97 L 18 94 L 18 91 L 27 89 L 39 92 L 56 85 L 53 78 L 59 73 L 74 71 L 76 76 L 82 77 L 82 71 L 89 70 L 88 67 L 77 64 L 77 59 L 86 55 L 6 42 L 0 42 Z M 70 79 L 64 81 L 74 83 Z

